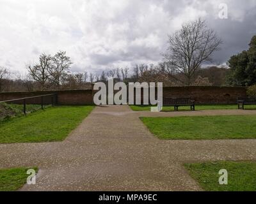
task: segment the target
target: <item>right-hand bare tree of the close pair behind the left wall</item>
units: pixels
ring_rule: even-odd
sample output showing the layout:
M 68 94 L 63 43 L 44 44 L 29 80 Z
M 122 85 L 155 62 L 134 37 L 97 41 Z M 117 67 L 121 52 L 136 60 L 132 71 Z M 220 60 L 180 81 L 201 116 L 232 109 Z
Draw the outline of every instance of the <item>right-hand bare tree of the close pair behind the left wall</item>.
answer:
M 65 51 L 59 51 L 52 57 L 52 64 L 48 71 L 50 79 L 58 89 L 60 89 L 61 78 L 68 74 L 70 65 L 72 64 L 70 57 L 66 56 Z

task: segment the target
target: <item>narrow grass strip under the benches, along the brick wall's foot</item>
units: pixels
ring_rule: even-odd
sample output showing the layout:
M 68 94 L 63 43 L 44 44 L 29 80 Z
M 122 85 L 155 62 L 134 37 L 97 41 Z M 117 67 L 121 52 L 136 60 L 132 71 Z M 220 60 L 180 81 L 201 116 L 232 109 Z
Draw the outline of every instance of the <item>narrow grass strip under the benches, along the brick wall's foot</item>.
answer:
M 150 111 L 151 105 L 130 105 L 134 111 Z M 247 110 L 256 110 L 256 105 L 245 105 Z M 195 105 L 196 110 L 225 110 L 225 109 L 237 109 L 237 105 Z M 179 110 L 189 110 L 190 106 L 180 106 Z M 174 111 L 173 106 L 164 106 L 163 112 Z

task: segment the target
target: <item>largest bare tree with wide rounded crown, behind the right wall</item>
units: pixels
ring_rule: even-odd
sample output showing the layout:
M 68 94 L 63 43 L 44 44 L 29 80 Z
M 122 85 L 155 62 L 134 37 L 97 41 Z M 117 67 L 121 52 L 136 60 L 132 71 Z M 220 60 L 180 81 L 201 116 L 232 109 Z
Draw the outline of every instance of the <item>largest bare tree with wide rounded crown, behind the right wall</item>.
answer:
M 191 85 L 191 79 L 195 71 L 200 68 L 202 62 L 212 61 L 211 55 L 219 50 L 222 43 L 217 34 L 207 27 L 204 20 L 188 22 L 182 28 L 169 36 L 168 52 L 164 54 L 166 62 L 165 71 L 175 78 L 175 74 L 181 73 L 186 78 L 183 82 Z M 175 78 L 179 80 L 179 78 Z

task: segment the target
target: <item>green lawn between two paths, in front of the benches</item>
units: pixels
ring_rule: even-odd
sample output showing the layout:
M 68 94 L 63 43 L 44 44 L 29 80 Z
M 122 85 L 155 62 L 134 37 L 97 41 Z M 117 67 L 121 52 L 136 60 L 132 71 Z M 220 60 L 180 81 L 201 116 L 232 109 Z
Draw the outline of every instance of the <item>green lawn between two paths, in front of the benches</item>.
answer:
M 256 138 L 256 115 L 141 117 L 141 120 L 160 139 Z

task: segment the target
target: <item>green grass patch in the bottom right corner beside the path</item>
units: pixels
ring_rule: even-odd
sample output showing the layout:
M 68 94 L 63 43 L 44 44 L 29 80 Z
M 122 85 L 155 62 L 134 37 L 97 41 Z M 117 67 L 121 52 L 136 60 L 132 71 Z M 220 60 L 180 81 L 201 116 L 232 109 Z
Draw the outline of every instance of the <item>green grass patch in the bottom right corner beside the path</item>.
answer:
M 194 163 L 185 167 L 205 191 L 256 191 L 255 161 Z M 228 171 L 227 185 L 219 184 L 221 169 Z

